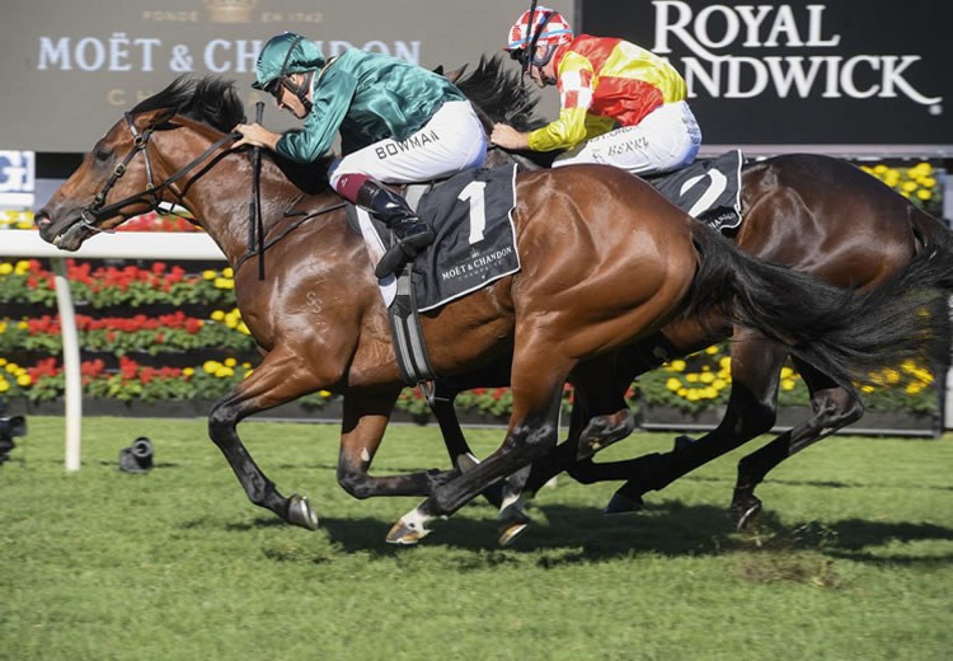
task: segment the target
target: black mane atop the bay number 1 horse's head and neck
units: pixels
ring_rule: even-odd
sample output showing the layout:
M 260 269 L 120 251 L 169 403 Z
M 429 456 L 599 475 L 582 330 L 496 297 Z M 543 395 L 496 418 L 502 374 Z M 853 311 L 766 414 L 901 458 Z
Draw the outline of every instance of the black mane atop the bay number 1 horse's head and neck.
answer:
M 234 82 L 211 75 L 204 78 L 180 75 L 165 90 L 138 103 L 132 114 L 164 109 L 208 124 L 222 133 L 229 133 L 235 124 L 245 121 L 245 107 Z

